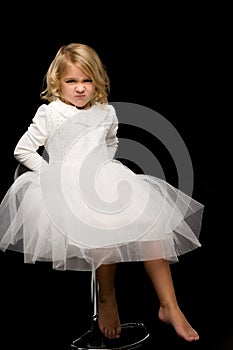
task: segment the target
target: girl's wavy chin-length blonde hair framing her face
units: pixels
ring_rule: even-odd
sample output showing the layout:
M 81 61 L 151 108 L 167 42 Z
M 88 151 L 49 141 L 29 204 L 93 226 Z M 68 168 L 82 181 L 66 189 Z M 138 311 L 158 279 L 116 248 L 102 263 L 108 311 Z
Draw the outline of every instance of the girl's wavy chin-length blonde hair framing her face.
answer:
M 76 65 L 93 81 L 95 93 L 92 104 L 107 103 L 110 81 L 106 69 L 93 48 L 78 43 L 63 45 L 58 50 L 44 77 L 43 86 L 46 85 L 46 88 L 41 91 L 40 98 L 49 102 L 57 98 L 64 101 L 60 90 L 60 80 L 68 63 Z

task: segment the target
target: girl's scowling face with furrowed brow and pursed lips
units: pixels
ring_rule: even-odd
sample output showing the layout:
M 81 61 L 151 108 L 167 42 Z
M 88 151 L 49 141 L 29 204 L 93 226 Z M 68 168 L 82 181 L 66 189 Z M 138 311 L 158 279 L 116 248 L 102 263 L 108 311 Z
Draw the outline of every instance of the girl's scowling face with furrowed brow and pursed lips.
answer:
M 88 109 L 91 107 L 95 87 L 90 77 L 69 63 L 61 77 L 61 92 L 66 103 Z

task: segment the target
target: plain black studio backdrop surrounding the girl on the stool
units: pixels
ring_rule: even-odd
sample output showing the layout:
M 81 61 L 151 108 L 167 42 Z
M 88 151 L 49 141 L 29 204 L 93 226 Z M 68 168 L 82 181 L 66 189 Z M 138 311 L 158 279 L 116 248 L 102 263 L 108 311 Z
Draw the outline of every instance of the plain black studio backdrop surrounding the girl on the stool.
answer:
M 117 270 L 121 320 L 144 322 L 151 332 L 148 349 L 232 349 L 231 232 L 223 196 L 228 122 L 221 100 L 227 11 L 145 5 L 21 3 L 2 12 L 1 198 L 17 166 L 14 147 L 41 104 L 42 79 L 55 53 L 70 42 L 92 46 L 110 76 L 110 102 L 149 107 L 178 130 L 193 163 L 193 197 L 205 205 L 202 247 L 171 266 L 177 298 L 200 341 L 184 342 L 158 321 L 158 300 L 141 264 Z M 118 135 L 153 151 L 143 131 L 120 125 Z M 172 170 L 167 176 L 172 182 Z M 88 272 L 27 265 L 10 251 L 0 252 L 0 271 L 2 350 L 66 350 L 89 327 Z

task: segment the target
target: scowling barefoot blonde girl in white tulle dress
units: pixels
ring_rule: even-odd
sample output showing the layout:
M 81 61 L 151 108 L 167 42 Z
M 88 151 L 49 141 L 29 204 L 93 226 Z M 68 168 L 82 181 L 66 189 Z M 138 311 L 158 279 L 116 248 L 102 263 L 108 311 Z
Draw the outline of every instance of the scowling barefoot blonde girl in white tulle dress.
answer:
M 31 171 L 17 177 L 2 200 L 0 248 L 23 252 L 25 263 L 96 270 L 98 324 L 110 339 L 121 332 L 116 264 L 143 261 L 160 320 L 183 339 L 198 340 L 178 306 L 169 264 L 200 247 L 203 205 L 114 159 L 118 119 L 108 103 L 107 72 L 91 47 L 62 46 L 45 83 L 41 98 L 48 103 L 14 151 Z

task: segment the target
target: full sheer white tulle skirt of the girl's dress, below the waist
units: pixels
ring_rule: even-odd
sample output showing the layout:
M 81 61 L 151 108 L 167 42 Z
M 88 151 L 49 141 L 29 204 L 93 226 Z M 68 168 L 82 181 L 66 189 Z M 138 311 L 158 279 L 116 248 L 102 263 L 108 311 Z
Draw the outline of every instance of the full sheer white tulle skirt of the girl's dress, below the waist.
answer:
M 95 170 L 95 171 L 93 171 Z M 53 162 L 28 171 L 0 205 L 0 248 L 26 263 L 93 270 L 102 264 L 164 258 L 200 247 L 203 205 L 117 160 L 98 169 Z

